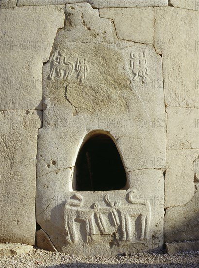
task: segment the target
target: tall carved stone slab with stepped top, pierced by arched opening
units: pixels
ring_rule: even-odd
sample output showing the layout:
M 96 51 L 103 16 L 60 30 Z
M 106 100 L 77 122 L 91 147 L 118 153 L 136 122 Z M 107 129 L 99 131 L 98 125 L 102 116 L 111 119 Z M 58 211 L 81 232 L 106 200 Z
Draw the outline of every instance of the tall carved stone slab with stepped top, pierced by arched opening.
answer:
M 120 45 L 109 19 L 100 18 L 87 3 L 69 4 L 65 28 L 58 31 L 43 67 L 36 211 L 37 222 L 58 251 L 110 255 L 163 245 L 163 203 L 155 210 L 150 200 L 154 189 L 164 195 L 161 57 L 152 46 Z M 95 133 L 114 141 L 127 175 L 123 189 L 75 190 L 78 152 Z M 153 157 L 163 158 L 162 167 Z M 153 190 L 147 193 L 149 185 Z

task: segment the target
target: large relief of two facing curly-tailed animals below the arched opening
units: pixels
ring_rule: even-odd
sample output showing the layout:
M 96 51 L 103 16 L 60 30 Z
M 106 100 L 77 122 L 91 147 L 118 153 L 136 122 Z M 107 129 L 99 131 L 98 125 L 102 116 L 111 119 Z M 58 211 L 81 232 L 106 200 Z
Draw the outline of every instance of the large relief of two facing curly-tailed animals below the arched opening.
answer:
M 83 241 L 92 240 L 92 235 L 117 233 L 119 241 L 144 240 L 148 238 L 151 220 L 151 206 L 148 201 L 137 198 L 136 191 L 127 194 L 126 200 L 130 205 L 119 205 L 111 202 L 109 196 L 104 197 L 107 206 L 100 207 L 94 203 L 90 208 L 83 206 L 83 197 L 80 194 L 73 195 L 65 206 L 65 230 L 67 242 L 75 243 L 80 239 L 80 230 L 76 230 L 76 223 L 83 223 L 85 234 Z M 136 236 L 135 221 L 140 218 L 141 223 Z

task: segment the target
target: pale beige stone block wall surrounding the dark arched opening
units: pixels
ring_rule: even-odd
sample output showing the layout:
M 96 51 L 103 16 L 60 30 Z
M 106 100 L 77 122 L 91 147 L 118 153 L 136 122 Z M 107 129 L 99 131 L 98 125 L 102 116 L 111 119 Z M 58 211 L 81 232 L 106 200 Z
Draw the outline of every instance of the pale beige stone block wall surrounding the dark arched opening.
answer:
M 0 4 L 0 242 L 35 245 L 36 223 L 75 254 L 199 240 L 199 1 Z M 120 154 L 121 190 L 74 190 L 96 131 Z

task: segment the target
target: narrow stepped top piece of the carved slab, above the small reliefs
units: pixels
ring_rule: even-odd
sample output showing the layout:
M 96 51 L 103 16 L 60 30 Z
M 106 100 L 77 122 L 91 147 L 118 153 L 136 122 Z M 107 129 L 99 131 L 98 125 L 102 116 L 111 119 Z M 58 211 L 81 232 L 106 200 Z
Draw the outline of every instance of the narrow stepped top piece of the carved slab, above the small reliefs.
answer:
M 113 21 L 109 19 L 101 19 L 99 11 L 92 9 L 88 3 L 66 5 L 66 29 L 60 30 L 57 37 L 57 48 L 67 49 L 68 43 L 73 42 L 109 42 L 115 45 L 117 41 L 116 31 Z M 92 16 L 90 14 L 92 13 Z M 65 38 L 62 38 L 64 34 Z M 71 44 L 71 45 L 76 45 Z M 55 44 L 54 44 L 55 46 Z

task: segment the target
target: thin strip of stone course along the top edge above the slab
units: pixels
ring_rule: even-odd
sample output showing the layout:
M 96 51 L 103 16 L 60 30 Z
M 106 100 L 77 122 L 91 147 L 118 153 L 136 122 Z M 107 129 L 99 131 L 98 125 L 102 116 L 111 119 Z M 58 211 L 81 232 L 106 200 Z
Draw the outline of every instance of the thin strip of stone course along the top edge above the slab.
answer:
M 167 6 L 168 0 L 18 0 L 18 6 L 29 5 L 57 5 L 57 4 L 74 4 L 88 2 L 94 8 L 122 8 L 122 7 L 147 7 L 147 6 Z

